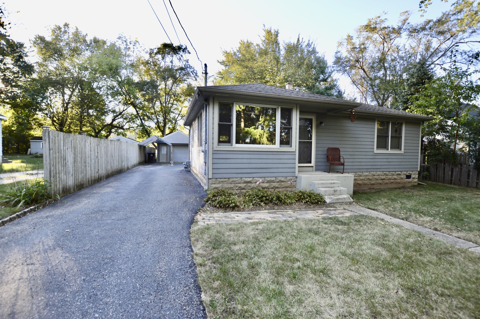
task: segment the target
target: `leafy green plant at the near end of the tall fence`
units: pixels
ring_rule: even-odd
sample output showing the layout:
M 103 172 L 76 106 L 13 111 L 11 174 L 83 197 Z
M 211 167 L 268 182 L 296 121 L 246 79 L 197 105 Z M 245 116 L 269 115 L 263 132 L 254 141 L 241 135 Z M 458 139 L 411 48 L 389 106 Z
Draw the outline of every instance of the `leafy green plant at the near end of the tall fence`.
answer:
M 19 210 L 30 205 L 47 205 L 58 195 L 50 192 L 50 182 L 37 180 L 35 182 L 25 181 L 22 184 L 5 189 L 0 193 L 0 205 L 10 206 Z

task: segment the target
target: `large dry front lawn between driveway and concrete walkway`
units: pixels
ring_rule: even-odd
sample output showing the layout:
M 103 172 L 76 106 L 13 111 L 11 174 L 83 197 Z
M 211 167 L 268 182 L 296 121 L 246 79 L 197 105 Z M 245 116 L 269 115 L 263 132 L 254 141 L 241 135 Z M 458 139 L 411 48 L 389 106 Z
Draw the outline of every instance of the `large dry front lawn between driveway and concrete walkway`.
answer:
M 194 224 L 208 317 L 479 317 L 478 255 L 381 222 Z

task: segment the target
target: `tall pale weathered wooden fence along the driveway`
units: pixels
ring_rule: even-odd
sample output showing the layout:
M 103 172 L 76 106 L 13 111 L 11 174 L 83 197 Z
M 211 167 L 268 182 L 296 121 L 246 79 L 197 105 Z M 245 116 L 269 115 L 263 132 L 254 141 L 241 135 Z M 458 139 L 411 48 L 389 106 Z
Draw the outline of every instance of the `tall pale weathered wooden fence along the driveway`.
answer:
M 150 147 L 43 130 L 44 179 L 60 196 L 145 162 Z

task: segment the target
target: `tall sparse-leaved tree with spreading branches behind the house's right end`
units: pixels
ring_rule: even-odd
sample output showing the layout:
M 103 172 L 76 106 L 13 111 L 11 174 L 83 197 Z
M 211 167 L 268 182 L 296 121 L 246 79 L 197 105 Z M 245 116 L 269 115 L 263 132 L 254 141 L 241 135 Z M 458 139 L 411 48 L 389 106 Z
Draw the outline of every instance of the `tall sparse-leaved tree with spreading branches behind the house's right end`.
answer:
M 403 12 L 396 25 L 389 25 L 384 14 L 376 16 L 338 42 L 336 70 L 350 78 L 363 102 L 390 107 L 413 63 L 459 62 L 459 50 L 478 43 L 478 24 L 460 27 L 453 10 L 418 24 L 410 24 L 409 17 Z

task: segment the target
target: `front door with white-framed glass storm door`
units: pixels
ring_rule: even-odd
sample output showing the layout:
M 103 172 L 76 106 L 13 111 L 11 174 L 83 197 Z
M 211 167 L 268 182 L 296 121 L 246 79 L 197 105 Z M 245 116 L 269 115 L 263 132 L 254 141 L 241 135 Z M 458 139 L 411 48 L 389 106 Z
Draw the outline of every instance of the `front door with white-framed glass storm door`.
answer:
M 315 165 L 315 116 L 301 115 L 299 118 L 299 171 L 313 171 Z

